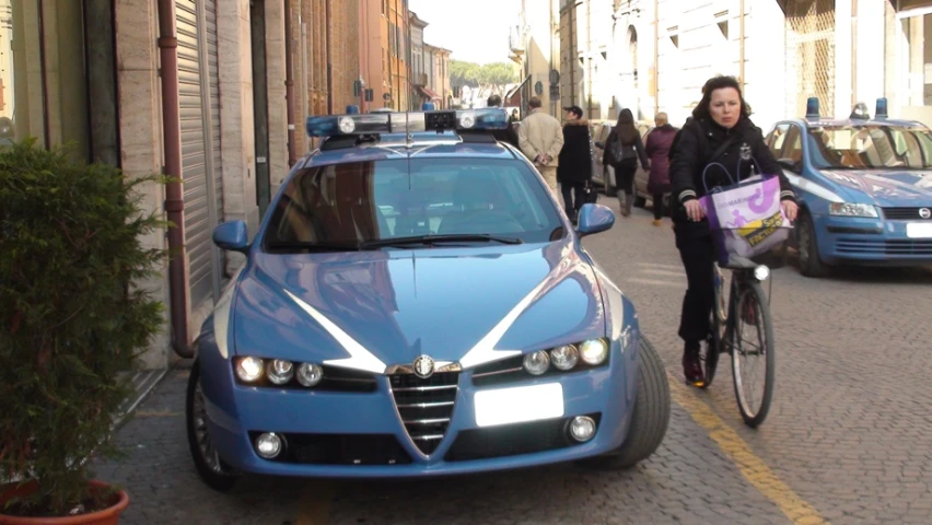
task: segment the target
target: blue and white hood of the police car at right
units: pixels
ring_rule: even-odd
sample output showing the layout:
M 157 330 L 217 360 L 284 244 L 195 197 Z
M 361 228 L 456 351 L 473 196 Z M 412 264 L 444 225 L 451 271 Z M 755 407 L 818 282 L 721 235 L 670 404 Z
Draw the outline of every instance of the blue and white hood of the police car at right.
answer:
M 932 205 L 932 171 L 825 170 L 843 188 L 865 194 L 881 207 Z

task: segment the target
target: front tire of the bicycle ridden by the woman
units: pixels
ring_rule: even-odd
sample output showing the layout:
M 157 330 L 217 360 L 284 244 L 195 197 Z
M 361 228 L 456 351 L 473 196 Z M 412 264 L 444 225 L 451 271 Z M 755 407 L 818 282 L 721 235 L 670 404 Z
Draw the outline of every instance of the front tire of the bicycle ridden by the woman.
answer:
M 757 303 L 758 310 L 757 314 L 760 316 L 760 323 L 758 325 L 762 325 L 764 328 L 764 341 L 762 347 L 765 351 L 764 363 L 766 366 L 766 371 L 764 374 L 764 393 L 761 394 L 760 402 L 757 407 L 752 405 L 752 400 L 749 400 L 745 396 L 744 388 L 742 388 L 742 357 L 741 357 L 741 347 L 743 342 L 738 341 L 737 337 L 737 326 L 742 323 L 741 316 L 744 312 L 744 304 L 746 302 Z M 764 289 L 760 288 L 760 283 L 758 282 L 749 282 L 747 288 L 741 292 L 738 298 L 737 312 L 735 312 L 735 332 L 734 335 L 734 345 L 732 347 L 732 377 L 734 378 L 735 384 L 735 399 L 737 399 L 738 410 L 741 410 L 741 417 L 744 419 L 745 424 L 748 427 L 756 429 L 760 423 L 767 419 L 767 413 L 770 411 L 770 402 L 773 400 L 773 383 L 776 381 L 776 366 L 777 366 L 777 355 L 774 354 L 774 341 L 773 341 L 773 323 L 770 319 L 770 306 L 767 304 L 767 298 L 764 295 Z M 743 339 L 743 338 L 742 338 Z

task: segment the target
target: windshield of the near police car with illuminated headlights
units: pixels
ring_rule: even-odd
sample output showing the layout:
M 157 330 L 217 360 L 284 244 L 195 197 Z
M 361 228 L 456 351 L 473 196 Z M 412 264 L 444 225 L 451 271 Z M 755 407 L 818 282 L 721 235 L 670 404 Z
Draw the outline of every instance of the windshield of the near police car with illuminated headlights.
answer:
M 387 240 L 540 243 L 563 236 L 547 188 L 516 160 L 401 159 L 296 173 L 271 210 L 267 250 L 352 249 Z M 471 237 L 470 237 L 471 236 Z M 401 242 L 398 245 L 403 245 Z

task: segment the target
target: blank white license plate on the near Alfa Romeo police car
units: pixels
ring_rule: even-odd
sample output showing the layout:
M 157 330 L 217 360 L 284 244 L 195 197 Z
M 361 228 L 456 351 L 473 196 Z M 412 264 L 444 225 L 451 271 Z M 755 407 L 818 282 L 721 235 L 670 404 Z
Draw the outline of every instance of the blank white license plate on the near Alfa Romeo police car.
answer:
M 559 383 L 480 390 L 473 400 L 478 427 L 523 423 L 563 416 L 563 386 Z

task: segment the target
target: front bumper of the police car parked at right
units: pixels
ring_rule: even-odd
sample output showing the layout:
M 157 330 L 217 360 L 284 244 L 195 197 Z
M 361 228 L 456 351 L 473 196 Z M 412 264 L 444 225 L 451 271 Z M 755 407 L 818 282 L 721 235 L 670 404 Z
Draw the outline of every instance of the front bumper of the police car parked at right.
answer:
M 932 264 L 932 237 L 908 236 L 907 224 L 910 221 L 836 215 L 814 215 L 813 219 L 819 256 L 827 264 L 865 266 Z

